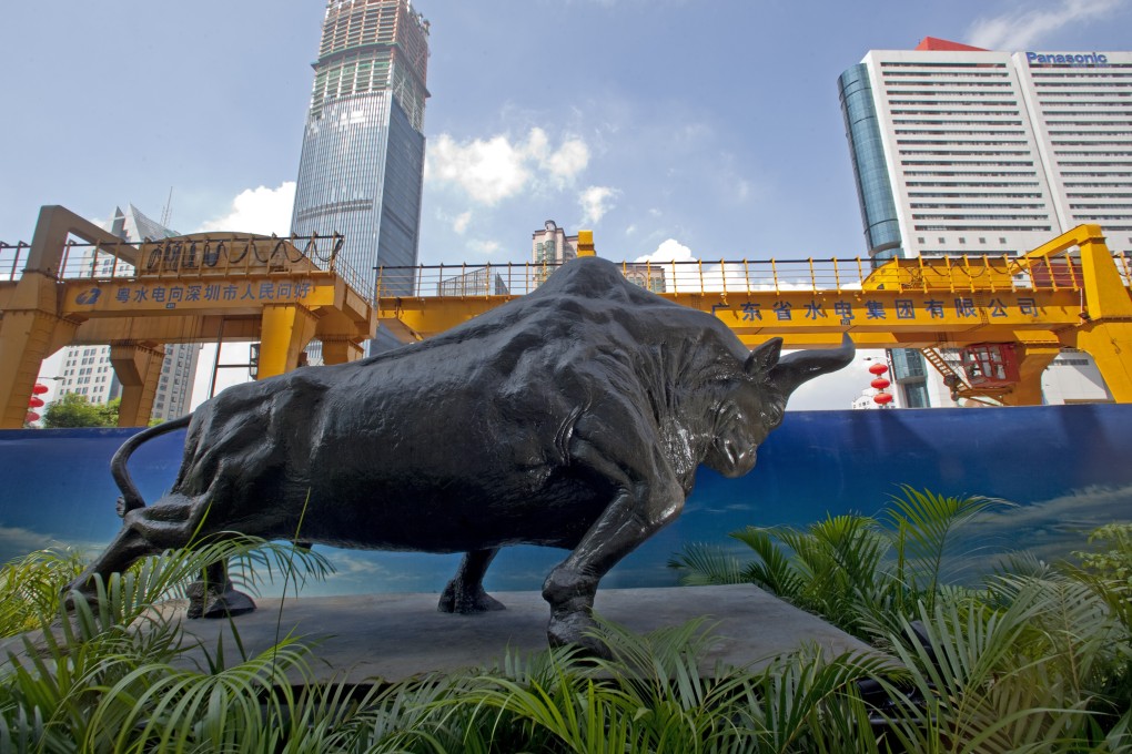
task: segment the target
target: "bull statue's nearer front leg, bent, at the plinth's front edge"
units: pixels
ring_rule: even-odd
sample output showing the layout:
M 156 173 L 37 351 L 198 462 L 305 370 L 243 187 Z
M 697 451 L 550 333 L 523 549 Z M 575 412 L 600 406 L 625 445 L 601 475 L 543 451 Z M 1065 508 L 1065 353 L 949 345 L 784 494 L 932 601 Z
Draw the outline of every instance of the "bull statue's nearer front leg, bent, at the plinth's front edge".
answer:
M 670 474 L 633 479 L 610 463 L 601 466 L 608 476 L 624 477 L 624 484 L 574 552 L 547 577 L 542 597 L 550 603 L 547 639 L 551 645 L 577 644 L 604 656 L 606 648 L 588 635 L 595 625 L 592 610 L 598 583 L 623 557 L 679 515 L 684 491 Z

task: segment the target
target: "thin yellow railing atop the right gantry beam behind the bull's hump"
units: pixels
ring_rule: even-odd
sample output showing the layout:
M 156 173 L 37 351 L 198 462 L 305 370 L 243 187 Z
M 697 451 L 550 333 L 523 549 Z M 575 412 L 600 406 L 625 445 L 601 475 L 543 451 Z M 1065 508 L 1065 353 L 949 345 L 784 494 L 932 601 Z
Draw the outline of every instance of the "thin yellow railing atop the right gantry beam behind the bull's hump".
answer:
M 1132 260 L 1113 255 L 1125 287 L 1132 286 Z M 1073 257 L 934 257 L 893 259 L 885 268 L 889 291 L 1080 291 L 1081 266 Z M 561 265 L 422 265 L 379 267 L 377 297 L 520 296 L 542 285 Z M 618 262 L 632 283 L 660 294 L 751 294 L 756 292 L 837 292 L 876 288 L 873 261 L 850 259 L 693 260 Z

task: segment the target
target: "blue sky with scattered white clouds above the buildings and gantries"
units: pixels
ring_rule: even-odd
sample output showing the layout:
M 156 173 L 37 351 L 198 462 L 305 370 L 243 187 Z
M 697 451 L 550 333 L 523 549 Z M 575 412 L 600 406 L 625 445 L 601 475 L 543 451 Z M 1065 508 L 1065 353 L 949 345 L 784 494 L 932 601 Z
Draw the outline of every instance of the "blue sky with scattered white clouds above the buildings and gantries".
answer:
M 598 253 L 861 251 L 837 78 L 936 36 L 1127 49 L 1132 0 L 419 0 L 431 24 L 424 263 L 521 261 L 546 219 Z M 290 222 L 321 0 L 6 3 L 0 240 L 172 188 L 181 232 Z M 867 382 L 867 380 L 866 380 Z

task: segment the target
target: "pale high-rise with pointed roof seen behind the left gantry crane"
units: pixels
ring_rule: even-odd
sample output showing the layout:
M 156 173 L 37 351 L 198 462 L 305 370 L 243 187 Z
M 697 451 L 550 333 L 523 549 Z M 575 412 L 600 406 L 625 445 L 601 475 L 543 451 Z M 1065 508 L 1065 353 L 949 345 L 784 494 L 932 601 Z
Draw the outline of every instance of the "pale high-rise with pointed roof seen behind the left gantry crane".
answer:
M 113 219 L 106 228 L 119 239 L 136 243 L 179 235 L 146 217 L 134 205 L 128 207 L 125 213 L 120 207 L 115 208 Z M 106 257 L 100 260 L 100 265 L 105 265 L 105 269 L 101 271 L 109 277 L 113 260 Z M 121 265 L 118 272 L 123 272 Z M 165 345 L 165 359 L 161 365 L 151 418 L 173 419 L 189 413 L 199 356 L 200 346 L 197 344 Z M 61 374 L 53 375 L 58 381 L 59 395 L 75 392 L 85 396 L 92 404 L 100 405 L 121 397 L 122 387 L 110 363 L 110 346 L 67 346 L 62 349 L 61 358 Z

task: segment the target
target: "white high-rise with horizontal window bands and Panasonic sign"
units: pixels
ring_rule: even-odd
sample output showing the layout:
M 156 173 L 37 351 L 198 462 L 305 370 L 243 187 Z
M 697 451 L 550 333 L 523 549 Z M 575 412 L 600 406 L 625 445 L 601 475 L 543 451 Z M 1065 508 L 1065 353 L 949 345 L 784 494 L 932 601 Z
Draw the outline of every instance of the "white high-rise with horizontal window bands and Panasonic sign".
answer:
M 1019 254 L 1083 223 L 1132 251 L 1132 53 L 994 52 L 927 37 L 871 51 L 838 84 L 877 262 Z M 899 406 L 952 405 L 918 352 L 893 352 L 892 363 Z M 1054 366 L 1048 401 L 1106 399 L 1088 355 Z M 1072 385 L 1054 384 L 1071 371 Z

